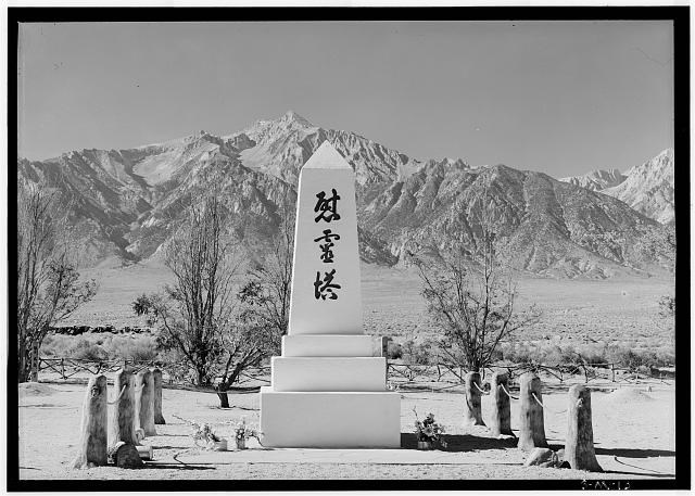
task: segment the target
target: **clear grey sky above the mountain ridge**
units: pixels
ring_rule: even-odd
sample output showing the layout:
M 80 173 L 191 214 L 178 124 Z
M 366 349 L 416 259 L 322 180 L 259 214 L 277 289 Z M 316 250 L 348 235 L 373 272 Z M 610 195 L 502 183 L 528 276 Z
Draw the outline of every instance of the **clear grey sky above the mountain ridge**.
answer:
M 294 110 L 416 158 L 555 177 L 673 145 L 670 22 L 24 25 L 20 155 L 226 135 Z

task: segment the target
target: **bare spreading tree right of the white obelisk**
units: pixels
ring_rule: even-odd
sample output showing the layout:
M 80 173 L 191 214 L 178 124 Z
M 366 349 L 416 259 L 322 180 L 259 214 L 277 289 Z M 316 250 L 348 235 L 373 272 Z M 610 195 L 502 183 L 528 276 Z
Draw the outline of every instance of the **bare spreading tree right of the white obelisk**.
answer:
M 500 343 L 540 316 L 535 307 L 518 309 L 511 262 L 494 229 L 488 187 L 479 200 L 480 237 L 472 249 L 459 239 L 439 257 L 409 254 L 428 313 L 442 329 L 440 353 L 469 371 L 494 361 Z

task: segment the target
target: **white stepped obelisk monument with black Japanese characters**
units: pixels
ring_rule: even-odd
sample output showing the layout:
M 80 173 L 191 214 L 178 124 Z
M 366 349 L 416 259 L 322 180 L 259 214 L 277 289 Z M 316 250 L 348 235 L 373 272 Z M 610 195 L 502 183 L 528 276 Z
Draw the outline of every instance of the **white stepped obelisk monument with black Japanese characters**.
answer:
M 263 445 L 399 448 L 401 395 L 362 327 L 355 175 L 325 141 L 300 173 L 288 334 L 261 387 Z

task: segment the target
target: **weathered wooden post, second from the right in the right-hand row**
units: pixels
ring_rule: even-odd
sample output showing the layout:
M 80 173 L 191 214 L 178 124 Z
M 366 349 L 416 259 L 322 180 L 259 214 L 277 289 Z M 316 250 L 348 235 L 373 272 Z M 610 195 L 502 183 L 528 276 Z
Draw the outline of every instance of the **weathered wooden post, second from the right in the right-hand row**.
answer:
M 534 372 L 526 372 L 519 379 L 519 443 L 517 447 L 528 452 L 533 448 L 546 448 L 543 407 L 533 398 L 541 399 L 541 380 Z

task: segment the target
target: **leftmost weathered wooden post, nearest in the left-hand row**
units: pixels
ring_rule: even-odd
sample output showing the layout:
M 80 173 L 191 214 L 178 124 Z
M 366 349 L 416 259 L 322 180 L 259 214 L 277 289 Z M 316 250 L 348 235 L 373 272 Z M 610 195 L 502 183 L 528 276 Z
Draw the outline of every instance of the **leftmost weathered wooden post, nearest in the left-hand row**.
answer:
M 78 454 L 74 469 L 106 465 L 106 377 L 93 376 L 87 384 L 83 403 L 83 419 Z

